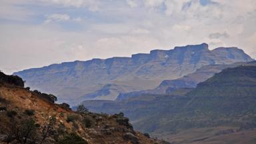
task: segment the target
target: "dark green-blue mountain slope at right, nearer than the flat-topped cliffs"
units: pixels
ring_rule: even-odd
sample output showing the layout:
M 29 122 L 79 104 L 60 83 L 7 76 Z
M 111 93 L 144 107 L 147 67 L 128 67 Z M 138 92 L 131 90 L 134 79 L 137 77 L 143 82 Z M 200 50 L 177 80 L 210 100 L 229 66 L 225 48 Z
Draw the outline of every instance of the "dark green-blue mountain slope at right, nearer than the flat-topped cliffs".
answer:
M 195 89 L 83 104 L 92 111 L 123 111 L 135 129 L 171 143 L 255 143 L 256 62 L 224 69 Z

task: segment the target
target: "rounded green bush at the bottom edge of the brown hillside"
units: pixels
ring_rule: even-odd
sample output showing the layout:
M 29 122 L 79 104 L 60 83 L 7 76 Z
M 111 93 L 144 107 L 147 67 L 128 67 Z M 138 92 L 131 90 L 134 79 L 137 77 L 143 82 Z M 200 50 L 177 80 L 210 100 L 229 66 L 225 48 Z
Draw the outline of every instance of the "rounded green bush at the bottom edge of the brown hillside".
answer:
M 62 139 L 59 139 L 57 144 L 88 144 L 88 142 L 81 138 L 79 135 L 70 133 L 65 135 Z

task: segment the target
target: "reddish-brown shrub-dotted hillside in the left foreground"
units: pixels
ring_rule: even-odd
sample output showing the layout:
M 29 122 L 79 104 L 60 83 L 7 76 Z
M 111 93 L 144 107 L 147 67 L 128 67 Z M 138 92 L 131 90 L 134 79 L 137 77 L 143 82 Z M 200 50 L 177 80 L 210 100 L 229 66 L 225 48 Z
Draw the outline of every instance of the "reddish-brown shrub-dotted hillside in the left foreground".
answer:
M 122 114 L 71 111 L 68 105 L 51 103 L 41 94 L 17 85 L 20 78 L 0 72 L 0 79 L 0 143 L 58 144 L 73 133 L 80 137 L 79 142 L 72 136 L 69 143 L 162 143 L 134 131 Z

